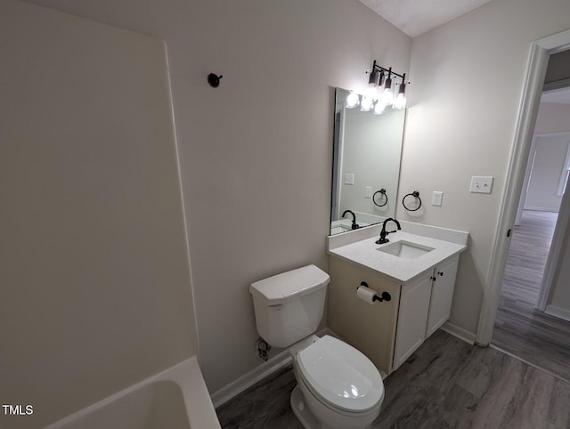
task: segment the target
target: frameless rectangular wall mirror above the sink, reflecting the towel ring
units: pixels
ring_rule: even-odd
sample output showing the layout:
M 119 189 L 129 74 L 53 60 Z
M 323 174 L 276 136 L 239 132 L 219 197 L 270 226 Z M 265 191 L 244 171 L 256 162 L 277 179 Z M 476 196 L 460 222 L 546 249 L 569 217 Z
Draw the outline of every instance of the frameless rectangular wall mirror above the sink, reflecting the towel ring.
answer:
M 348 109 L 348 94 L 336 90 L 330 235 L 352 231 L 352 213 L 361 228 L 394 217 L 397 201 L 405 109 Z

